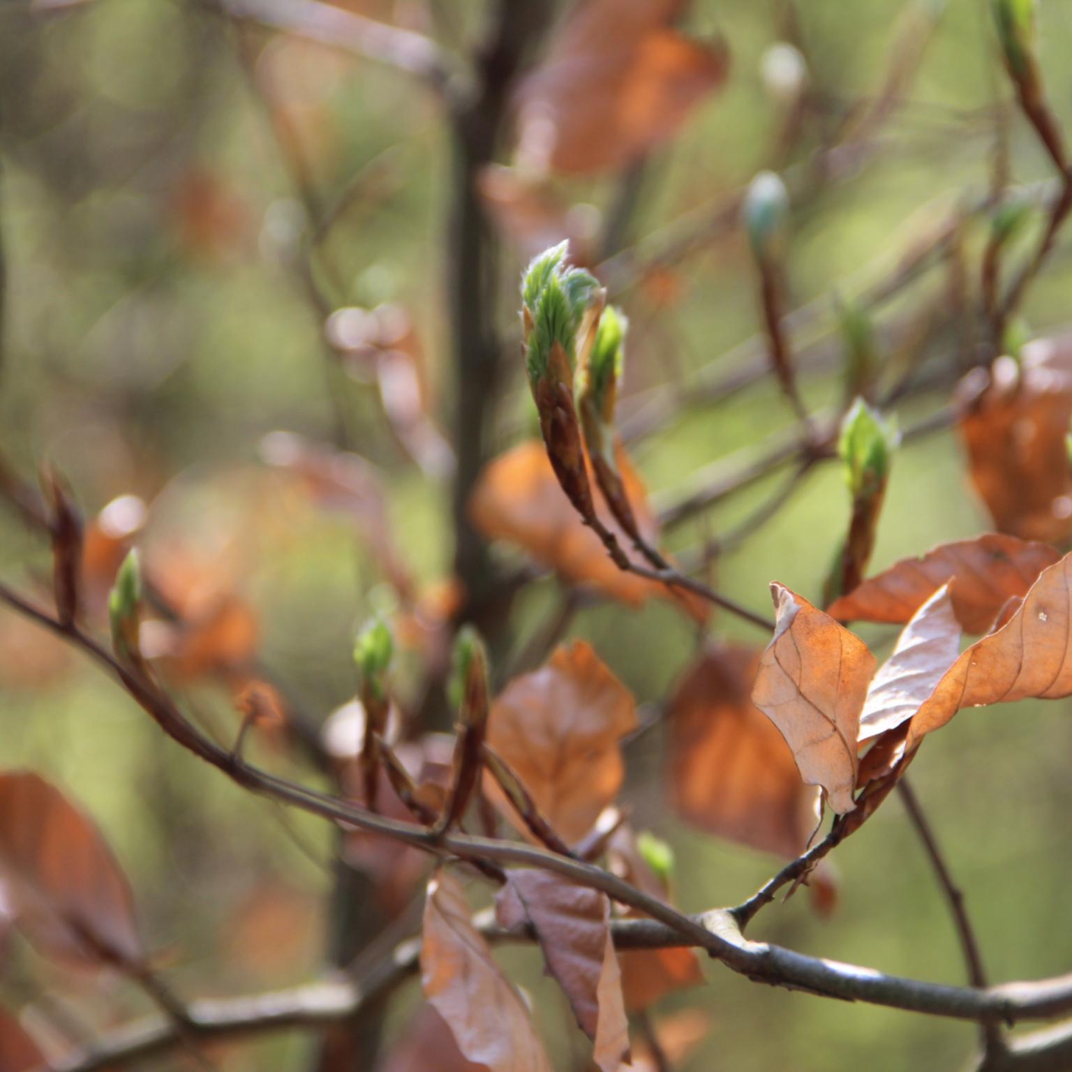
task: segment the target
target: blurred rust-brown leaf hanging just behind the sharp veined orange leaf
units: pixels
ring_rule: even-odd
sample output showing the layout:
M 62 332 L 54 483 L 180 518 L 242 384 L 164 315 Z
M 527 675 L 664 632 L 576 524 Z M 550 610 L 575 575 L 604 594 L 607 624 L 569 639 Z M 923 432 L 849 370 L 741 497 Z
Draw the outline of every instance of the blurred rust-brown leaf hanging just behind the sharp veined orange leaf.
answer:
M 804 850 L 815 828 L 816 790 L 796 770 L 785 738 L 751 702 L 760 653 L 710 647 L 668 708 L 666 784 L 689 822 L 784 857 Z

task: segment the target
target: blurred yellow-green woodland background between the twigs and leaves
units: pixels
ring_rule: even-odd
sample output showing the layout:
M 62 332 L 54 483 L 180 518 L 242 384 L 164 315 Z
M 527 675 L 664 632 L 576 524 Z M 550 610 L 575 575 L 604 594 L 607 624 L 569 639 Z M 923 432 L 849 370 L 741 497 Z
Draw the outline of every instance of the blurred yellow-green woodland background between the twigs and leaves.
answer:
M 426 6 L 437 9 L 433 32 L 452 47 L 472 45 L 480 26 L 477 4 L 399 3 L 396 11 L 384 2 L 362 10 L 427 23 Z M 832 99 L 875 93 L 905 6 L 893 0 L 798 4 L 814 77 Z M 634 236 L 735 188 L 769 163 L 777 109 L 763 91 L 758 61 L 778 40 L 776 15 L 774 4 L 743 0 L 693 4 L 689 26 L 725 35 L 731 73 L 725 90 L 651 161 Z M 1040 20 L 1049 95 L 1058 115 L 1072 119 L 1072 73 L 1063 62 L 1072 9 L 1043 0 Z M 255 51 L 280 47 L 266 40 L 252 35 Z M 330 199 L 370 162 L 386 159 L 389 175 L 386 193 L 343 214 L 325 259 L 337 267 L 346 302 L 392 300 L 412 311 L 445 417 L 450 370 L 443 295 L 451 251 L 445 222 L 449 135 L 442 111 L 404 76 L 373 63 L 341 62 L 313 48 L 296 62 L 299 81 L 315 96 L 313 133 L 326 145 L 315 168 L 325 196 Z M 866 281 L 867 266 L 881 267 L 883 256 L 903 248 L 922 206 L 985 190 L 993 124 L 982 109 L 1009 99 L 1002 78 L 988 12 L 978 0 L 951 0 L 908 104 L 883 129 L 888 144 L 859 176 L 823 193 L 794 221 L 790 276 L 798 303 L 835 288 L 852 295 Z M 270 481 L 250 477 L 254 491 L 241 490 L 242 474 L 256 464 L 256 443 L 279 428 L 329 438 L 332 406 L 321 325 L 281 252 L 279 236 L 300 221 L 300 208 L 266 113 L 236 61 L 233 31 L 211 12 L 177 0 L 94 0 L 55 13 L 4 4 L 0 116 L 8 268 L 0 450 L 26 473 L 40 458 L 53 458 L 87 512 L 119 493 L 151 497 L 166 486 L 170 523 L 194 536 L 243 494 L 255 494 L 268 513 L 278 494 L 284 510 L 282 491 Z M 1046 161 L 1022 121 L 1011 125 L 1011 145 L 1016 181 L 1046 177 Z M 192 175 L 209 176 L 238 206 L 243 238 L 222 249 L 191 245 L 175 196 Z M 606 207 L 615 181 L 563 189 Z M 966 235 L 972 266 L 980 234 Z M 687 376 L 756 331 L 743 249 L 733 235 L 686 259 L 678 269 L 681 299 L 672 308 L 657 309 L 637 291 L 623 296 L 635 325 L 627 397 Z M 507 333 L 520 264 L 516 251 L 504 258 Z M 928 274 L 880 311 L 879 325 L 941 285 L 939 274 Z M 1058 249 L 1025 306 L 1036 332 L 1067 316 L 1068 285 Z M 513 354 L 515 340 L 509 343 Z M 955 339 L 942 345 L 937 361 L 948 359 Z M 729 370 L 732 359 L 724 364 Z M 532 421 L 520 373 L 519 363 L 506 377 L 497 432 L 504 447 Z M 805 389 L 817 406 L 837 404 L 834 376 L 814 376 Z M 943 401 L 930 397 L 904 406 L 902 426 Z M 425 479 L 396 447 L 372 390 L 352 385 L 344 405 L 358 429 L 358 448 L 389 474 L 400 552 L 422 579 L 442 577 L 450 555 L 448 489 Z M 775 390 L 763 384 L 715 410 L 683 415 L 634 453 L 656 501 L 668 501 L 702 465 L 788 422 Z M 213 477 L 219 473 L 232 476 Z M 712 511 L 710 531 L 731 526 L 772 488 L 762 483 Z M 816 598 L 847 513 L 839 475 L 832 467 L 818 471 L 773 522 L 719 564 L 720 586 L 759 609 L 774 579 Z M 286 519 L 279 523 L 285 526 Z M 45 549 L 10 512 L 0 525 L 4 579 L 30 583 L 47 566 Z M 955 436 L 913 441 L 895 461 L 874 566 L 987 525 Z M 679 544 L 688 547 L 701 534 L 684 531 Z M 265 660 L 311 710 L 327 712 L 352 695 L 352 630 L 374 604 L 378 578 L 371 563 L 355 566 L 344 523 L 307 520 L 298 536 L 255 556 L 248 594 L 263 623 Z M 520 600 L 518 645 L 538 627 L 555 592 L 554 582 L 541 581 Z M 5 623 L 3 636 L 11 628 Z M 748 626 L 725 616 L 714 629 L 756 640 Z M 577 616 L 570 636 L 592 641 L 642 701 L 666 695 L 694 645 L 690 626 L 667 605 L 628 612 L 597 605 Z M 218 725 L 234 717 L 222 690 L 199 688 L 189 699 Z M 131 876 L 147 933 L 165 951 L 176 989 L 226 994 L 314 977 L 317 913 L 330 884 L 325 864 L 331 836 L 323 823 L 284 815 L 233 787 L 165 742 L 109 682 L 77 661 L 33 687 L 0 679 L 0 762 L 31 766 L 62 784 L 106 832 Z M 628 756 L 624 796 L 637 823 L 674 846 L 685 909 L 739 902 L 776 862 L 683 828 L 661 799 L 659 748 L 658 734 L 649 734 Z M 995 981 L 1060 973 L 1072 964 L 1064 910 L 1070 758 L 1068 704 L 1055 702 L 966 712 L 928 741 L 913 764 L 913 783 L 968 892 Z M 279 757 L 269 759 L 286 768 Z M 798 896 L 764 912 L 755 936 L 919 979 L 963 981 L 947 906 L 897 801 L 838 849 L 836 868 L 840 903 L 831 918 L 816 918 L 807 898 Z M 266 883 L 308 898 L 309 941 L 287 963 L 257 968 L 228 952 L 227 936 L 248 898 Z M 517 965 L 534 987 L 564 1061 L 563 1008 L 551 984 L 540 981 L 535 955 L 510 951 L 504 963 Z M 682 1064 L 684 1072 L 947 1070 L 974 1044 L 970 1025 L 768 989 L 714 965 L 705 970 L 709 988 L 666 1002 L 672 1009 L 696 1001 L 712 1014 L 711 1039 Z M 9 954 L 2 985 L 12 1006 L 32 1003 L 44 985 L 91 1024 L 103 1023 L 109 1009 L 144 1007 L 122 987 L 102 992 L 68 978 L 20 946 Z M 295 1036 L 218 1056 L 228 1069 L 284 1069 L 301 1066 L 306 1053 L 306 1040 Z

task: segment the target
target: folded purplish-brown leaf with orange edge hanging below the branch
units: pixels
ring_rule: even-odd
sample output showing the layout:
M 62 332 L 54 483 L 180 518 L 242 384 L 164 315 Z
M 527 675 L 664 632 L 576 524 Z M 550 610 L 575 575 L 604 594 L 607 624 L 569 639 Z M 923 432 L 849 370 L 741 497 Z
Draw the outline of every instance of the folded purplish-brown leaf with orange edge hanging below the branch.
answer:
M 607 894 L 523 868 L 509 873 L 495 898 L 495 915 L 504 927 L 532 925 L 548 970 L 595 1043 L 593 1059 L 604 1072 L 616 1072 L 628 1060 L 629 1024 Z

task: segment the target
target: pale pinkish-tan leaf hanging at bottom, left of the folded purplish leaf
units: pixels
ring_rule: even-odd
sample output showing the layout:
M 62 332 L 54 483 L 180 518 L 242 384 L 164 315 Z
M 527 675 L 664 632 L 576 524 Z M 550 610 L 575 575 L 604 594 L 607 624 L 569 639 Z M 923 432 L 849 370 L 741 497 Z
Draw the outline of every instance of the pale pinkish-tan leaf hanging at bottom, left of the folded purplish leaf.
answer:
M 461 887 L 442 869 L 428 883 L 420 981 L 468 1060 L 491 1072 L 551 1072 L 521 996 L 473 926 Z

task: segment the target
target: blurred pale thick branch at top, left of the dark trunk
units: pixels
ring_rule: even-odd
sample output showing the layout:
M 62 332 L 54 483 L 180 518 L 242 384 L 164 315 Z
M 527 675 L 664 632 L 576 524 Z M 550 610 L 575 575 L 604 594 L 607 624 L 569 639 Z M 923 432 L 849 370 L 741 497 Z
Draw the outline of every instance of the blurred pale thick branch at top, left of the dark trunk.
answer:
M 413 75 L 448 95 L 458 72 L 429 38 L 319 0 L 218 0 L 233 18 L 259 23 Z

